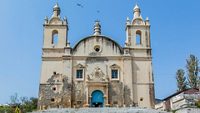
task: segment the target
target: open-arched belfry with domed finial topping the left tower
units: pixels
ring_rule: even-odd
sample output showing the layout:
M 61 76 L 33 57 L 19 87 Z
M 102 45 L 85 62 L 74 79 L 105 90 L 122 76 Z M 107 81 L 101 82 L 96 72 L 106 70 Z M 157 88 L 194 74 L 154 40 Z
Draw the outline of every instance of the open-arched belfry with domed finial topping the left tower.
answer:
M 43 48 L 64 48 L 67 46 L 68 23 L 66 18 L 61 19 L 60 12 L 60 7 L 56 4 L 53 7 L 51 18 L 45 18 Z

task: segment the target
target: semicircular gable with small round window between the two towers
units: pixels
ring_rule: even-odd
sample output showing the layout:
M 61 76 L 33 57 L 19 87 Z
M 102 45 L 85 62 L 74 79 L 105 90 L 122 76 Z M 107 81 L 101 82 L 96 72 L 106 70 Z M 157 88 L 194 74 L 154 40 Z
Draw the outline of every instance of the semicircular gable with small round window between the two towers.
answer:
M 101 56 L 108 56 L 108 54 L 121 55 L 123 49 L 116 41 L 103 35 L 85 37 L 73 48 L 74 55 L 89 55 L 92 53 L 98 53 Z

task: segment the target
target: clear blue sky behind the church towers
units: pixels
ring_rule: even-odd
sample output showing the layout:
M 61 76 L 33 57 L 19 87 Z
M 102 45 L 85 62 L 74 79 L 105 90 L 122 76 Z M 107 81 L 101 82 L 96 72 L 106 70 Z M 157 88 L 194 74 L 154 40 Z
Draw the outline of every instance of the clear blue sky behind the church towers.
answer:
M 14 93 L 37 97 L 42 25 L 44 17 L 51 16 L 56 1 L 61 7 L 61 16 L 68 19 L 72 47 L 93 33 L 97 19 L 101 22 L 102 34 L 124 46 L 126 17 L 132 19 L 133 7 L 138 3 L 143 18 L 148 16 L 151 23 L 157 98 L 176 91 L 176 70 L 185 69 L 189 54 L 200 58 L 199 0 L 1 0 L 0 103 L 9 102 Z

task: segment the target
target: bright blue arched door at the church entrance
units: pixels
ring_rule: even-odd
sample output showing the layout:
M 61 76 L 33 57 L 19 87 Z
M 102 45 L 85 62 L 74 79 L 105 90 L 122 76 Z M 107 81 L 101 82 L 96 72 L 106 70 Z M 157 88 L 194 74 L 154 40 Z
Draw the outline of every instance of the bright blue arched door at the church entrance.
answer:
M 91 107 L 103 107 L 104 95 L 101 91 L 95 90 L 92 92 Z

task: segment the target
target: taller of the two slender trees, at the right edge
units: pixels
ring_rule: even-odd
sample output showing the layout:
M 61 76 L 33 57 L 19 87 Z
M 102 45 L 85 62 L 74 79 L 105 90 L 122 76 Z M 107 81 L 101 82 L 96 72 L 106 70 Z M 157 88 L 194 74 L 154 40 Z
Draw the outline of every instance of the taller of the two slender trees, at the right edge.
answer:
M 190 57 L 186 61 L 189 86 L 190 88 L 197 88 L 199 83 L 199 60 L 196 56 L 190 55 Z

